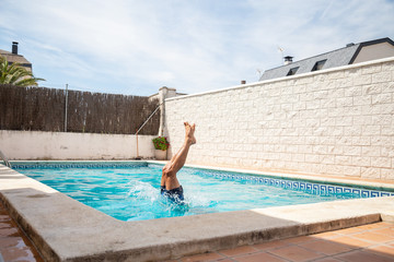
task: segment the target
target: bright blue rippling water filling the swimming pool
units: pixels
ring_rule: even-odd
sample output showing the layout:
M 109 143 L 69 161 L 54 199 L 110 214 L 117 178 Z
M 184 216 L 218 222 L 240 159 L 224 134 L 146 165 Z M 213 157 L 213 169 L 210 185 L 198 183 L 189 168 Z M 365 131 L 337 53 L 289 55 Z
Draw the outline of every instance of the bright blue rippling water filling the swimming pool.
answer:
M 160 195 L 163 166 L 154 164 L 13 164 L 14 169 L 121 221 L 206 214 L 394 195 L 393 192 L 317 184 L 208 169 L 183 168 L 185 203 Z

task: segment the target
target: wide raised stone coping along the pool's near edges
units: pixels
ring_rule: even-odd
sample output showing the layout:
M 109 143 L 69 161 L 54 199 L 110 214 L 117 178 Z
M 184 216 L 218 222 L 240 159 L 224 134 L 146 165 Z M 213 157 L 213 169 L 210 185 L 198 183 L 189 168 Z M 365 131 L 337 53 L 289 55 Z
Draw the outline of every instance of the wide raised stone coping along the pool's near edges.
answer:
M 394 221 L 385 196 L 121 222 L 1 165 L 0 193 L 47 261 L 163 261 Z

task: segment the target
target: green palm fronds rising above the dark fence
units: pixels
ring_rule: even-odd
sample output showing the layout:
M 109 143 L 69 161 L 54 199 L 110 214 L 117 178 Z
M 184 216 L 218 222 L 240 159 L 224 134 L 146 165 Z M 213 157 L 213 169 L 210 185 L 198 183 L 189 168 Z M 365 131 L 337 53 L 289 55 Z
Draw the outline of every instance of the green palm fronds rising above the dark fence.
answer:
M 34 78 L 33 73 L 22 68 L 19 63 L 9 64 L 7 58 L 0 56 L 0 84 L 16 86 L 37 86 L 44 79 Z

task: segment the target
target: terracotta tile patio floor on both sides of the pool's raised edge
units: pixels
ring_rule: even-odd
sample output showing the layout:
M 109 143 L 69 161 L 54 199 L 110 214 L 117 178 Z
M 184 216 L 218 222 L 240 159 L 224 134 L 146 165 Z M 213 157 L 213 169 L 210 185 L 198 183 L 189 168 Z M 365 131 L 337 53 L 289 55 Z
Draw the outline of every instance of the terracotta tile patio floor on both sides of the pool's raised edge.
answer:
M 43 259 L 0 202 L 0 262 Z M 2 259 L 2 260 L 1 260 Z M 311 236 L 219 250 L 166 262 L 394 261 L 394 223 L 380 222 Z

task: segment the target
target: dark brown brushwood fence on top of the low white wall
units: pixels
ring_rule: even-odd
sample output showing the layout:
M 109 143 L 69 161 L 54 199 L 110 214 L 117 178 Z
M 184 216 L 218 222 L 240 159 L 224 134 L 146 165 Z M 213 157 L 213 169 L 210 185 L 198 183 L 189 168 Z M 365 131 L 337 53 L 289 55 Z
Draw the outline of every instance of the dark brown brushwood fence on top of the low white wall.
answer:
M 66 91 L 0 85 L 0 129 L 65 131 Z M 68 132 L 134 134 L 159 106 L 148 97 L 68 91 Z M 158 111 L 140 131 L 157 134 Z

